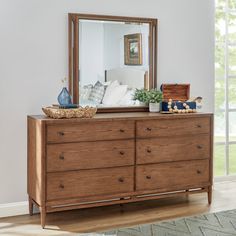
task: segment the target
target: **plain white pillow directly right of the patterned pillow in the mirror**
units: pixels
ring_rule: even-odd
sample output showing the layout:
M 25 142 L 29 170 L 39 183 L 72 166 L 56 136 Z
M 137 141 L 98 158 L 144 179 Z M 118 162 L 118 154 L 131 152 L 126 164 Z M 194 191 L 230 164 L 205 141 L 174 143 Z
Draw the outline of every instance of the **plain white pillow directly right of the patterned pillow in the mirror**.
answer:
M 115 82 L 115 81 L 114 81 Z M 113 84 L 113 83 L 112 83 Z M 102 103 L 104 105 L 116 105 L 125 95 L 128 86 L 127 85 L 115 85 L 108 86 L 103 97 Z M 119 83 L 118 83 L 119 84 Z

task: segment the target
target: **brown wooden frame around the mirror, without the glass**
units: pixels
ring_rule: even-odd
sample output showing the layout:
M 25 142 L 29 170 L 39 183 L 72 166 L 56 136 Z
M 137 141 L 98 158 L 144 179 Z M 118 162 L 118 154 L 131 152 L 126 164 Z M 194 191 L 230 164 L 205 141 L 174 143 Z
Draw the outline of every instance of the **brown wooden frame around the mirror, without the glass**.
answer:
M 149 89 L 157 87 L 157 27 L 158 20 L 154 18 L 68 14 L 68 54 L 69 54 L 69 92 L 73 103 L 79 101 L 79 20 L 119 21 L 129 23 L 149 24 Z M 75 43 L 77 42 L 77 43 Z M 98 112 L 133 112 L 148 111 L 147 106 L 140 107 L 108 107 L 98 108 Z

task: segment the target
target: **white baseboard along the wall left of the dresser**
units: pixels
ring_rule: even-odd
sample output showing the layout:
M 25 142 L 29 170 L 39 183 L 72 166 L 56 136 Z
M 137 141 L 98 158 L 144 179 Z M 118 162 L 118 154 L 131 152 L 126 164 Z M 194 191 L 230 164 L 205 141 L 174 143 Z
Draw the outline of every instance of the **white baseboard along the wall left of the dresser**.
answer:
M 28 202 L 0 204 L 0 218 L 29 214 Z

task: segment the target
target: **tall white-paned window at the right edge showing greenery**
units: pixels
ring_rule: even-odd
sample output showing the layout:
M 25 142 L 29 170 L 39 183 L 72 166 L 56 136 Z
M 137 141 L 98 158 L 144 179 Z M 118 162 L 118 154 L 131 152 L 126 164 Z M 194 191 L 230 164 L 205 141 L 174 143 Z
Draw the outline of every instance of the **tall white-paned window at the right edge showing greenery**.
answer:
M 236 174 L 236 0 L 216 0 L 215 176 Z

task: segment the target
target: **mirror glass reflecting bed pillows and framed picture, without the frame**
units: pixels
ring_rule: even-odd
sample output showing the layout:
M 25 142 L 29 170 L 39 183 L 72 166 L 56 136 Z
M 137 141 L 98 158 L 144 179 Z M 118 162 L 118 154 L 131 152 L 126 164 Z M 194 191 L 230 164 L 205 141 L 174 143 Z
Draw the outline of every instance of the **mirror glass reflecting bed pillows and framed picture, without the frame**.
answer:
M 79 103 L 140 106 L 149 88 L 149 24 L 79 20 Z

